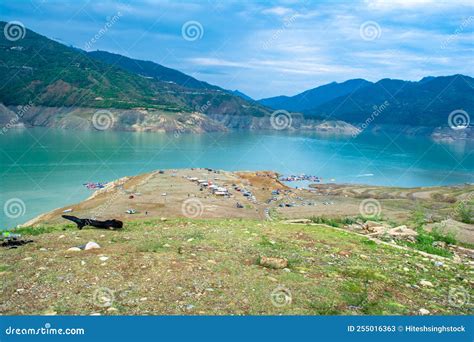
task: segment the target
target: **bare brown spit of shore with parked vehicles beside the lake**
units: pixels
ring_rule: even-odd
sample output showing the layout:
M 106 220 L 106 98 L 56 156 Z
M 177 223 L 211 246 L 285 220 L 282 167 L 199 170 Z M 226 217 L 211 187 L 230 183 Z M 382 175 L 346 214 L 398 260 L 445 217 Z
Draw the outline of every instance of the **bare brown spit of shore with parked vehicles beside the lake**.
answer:
M 202 184 L 198 183 L 198 180 Z M 205 182 L 203 182 L 205 181 Z M 224 188 L 216 195 L 209 185 Z M 212 187 L 211 186 L 211 187 Z M 472 225 L 453 224 L 454 203 L 471 198 L 474 185 L 392 188 L 355 184 L 311 184 L 295 189 L 272 171 L 213 169 L 157 170 L 110 182 L 85 201 L 44 213 L 22 226 L 64 223 L 63 212 L 99 220 L 147 218 L 245 218 L 257 220 L 344 218 L 364 214 L 364 200 L 375 202 L 384 220 L 407 224 L 415 206 L 425 208 L 428 226 L 439 226 L 474 244 Z M 189 206 L 189 208 L 187 208 Z M 188 213 L 191 210 L 192 213 Z M 127 213 L 129 212 L 129 213 Z M 132 212 L 132 213 L 130 213 Z M 449 221 L 446 227 L 446 220 Z

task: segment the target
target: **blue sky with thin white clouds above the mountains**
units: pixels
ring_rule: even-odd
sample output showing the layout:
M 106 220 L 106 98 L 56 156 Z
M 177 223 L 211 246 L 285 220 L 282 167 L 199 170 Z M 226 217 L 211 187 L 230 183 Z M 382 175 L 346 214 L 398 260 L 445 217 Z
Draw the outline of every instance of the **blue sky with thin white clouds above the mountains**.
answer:
M 256 99 L 351 78 L 474 75 L 471 0 L 2 0 L 0 18 Z

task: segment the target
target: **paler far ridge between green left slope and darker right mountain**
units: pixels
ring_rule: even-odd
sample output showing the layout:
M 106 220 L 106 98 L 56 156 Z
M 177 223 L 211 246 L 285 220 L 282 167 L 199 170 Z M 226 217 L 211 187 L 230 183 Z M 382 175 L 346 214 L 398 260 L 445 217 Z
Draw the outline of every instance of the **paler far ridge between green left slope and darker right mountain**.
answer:
M 339 96 L 348 95 L 370 84 L 372 83 L 364 79 L 348 80 L 342 83 L 332 82 L 314 89 L 306 90 L 295 96 L 282 95 L 261 99 L 258 100 L 258 102 L 274 109 L 305 112 Z

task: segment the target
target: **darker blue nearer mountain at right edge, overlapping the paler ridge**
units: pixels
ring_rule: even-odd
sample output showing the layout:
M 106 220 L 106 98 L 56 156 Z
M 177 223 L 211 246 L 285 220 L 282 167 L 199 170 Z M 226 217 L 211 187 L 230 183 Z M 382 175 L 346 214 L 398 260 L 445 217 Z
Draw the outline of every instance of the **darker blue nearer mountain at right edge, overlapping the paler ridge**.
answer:
M 454 110 L 474 113 L 474 79 L 425 77 L 419 82 L 383 79 L 307 111 L 309 117 L 375 124 L 446 126 Z

